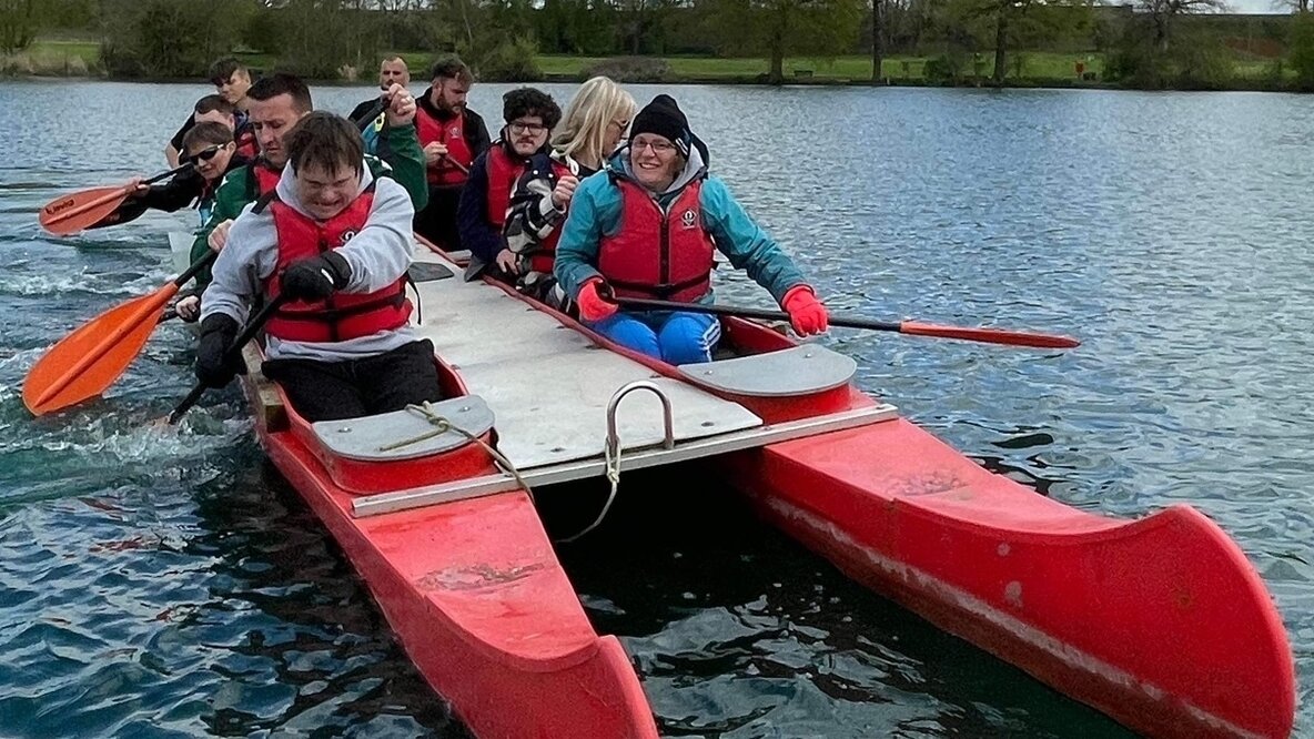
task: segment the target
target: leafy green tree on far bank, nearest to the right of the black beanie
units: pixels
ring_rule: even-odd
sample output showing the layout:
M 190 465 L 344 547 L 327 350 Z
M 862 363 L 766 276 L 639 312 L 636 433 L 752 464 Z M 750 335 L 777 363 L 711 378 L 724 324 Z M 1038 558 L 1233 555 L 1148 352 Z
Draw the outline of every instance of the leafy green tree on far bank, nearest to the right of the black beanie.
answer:
M 866 0 L 703 0 L 711 22 L 736 29 L 723 51 L 762 54 L 767 82 L 784 82 L 784 57 L 832 58 L 853 49 Z

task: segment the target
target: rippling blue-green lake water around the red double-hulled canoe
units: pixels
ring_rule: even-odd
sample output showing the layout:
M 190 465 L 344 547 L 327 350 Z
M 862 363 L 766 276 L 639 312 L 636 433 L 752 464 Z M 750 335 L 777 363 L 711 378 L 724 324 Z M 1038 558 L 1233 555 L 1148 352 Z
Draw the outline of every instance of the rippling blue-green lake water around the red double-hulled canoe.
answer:
M 497 121 L 506 89 L 477 85 L 470 105 Z M 164 284 L 166 234 L 189 225 L 150 214 L 57 239 L 35 209 L 163 171 L 205 92 L 0 83 L 0 734 L 464 736 L 264 460 L 237 392 L 177 431 L 147 426 L 191 385 L 180 326 L 104 400 L 41 419 L 22 406 L 45 348 Z M 1039 493 L 1218 521 L 1277 600 L 1297 734 L 1314 732 L 1314 97 L 671 92 L 832 309 L 1080 337 L 1066 354 L 825 341 L 866 391 Z M 338 112 L 369 95 L 315 91 Z M 723 301 L 765 304 L 720 279 Z M 851 584 L 714 484 L 623 487 L 561 558 L 671 736 L 1127 734 Z

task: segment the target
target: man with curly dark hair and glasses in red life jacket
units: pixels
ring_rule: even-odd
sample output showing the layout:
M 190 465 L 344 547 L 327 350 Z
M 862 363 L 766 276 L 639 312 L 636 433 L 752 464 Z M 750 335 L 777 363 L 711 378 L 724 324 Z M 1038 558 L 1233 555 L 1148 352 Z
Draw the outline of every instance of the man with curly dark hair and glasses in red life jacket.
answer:
M 502 96 L 502 135 L 470 167 L 456 214 L 461 246 L 470 250 L 472 276 L 485 264 L 515 276 L 518 259 L 502 238 L 511 192 L 530 158 L 549 151 L 548 134 L 561 121 L 561 108 L 548 93 L 522 87 Z

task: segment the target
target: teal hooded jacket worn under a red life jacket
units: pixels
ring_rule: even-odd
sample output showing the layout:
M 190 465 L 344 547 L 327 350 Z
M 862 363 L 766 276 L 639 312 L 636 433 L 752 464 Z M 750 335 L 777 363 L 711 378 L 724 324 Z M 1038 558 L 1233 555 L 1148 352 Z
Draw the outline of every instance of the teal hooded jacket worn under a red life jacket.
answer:
M 695 179 L 704 176 L 707 166 L 698 147 L 690 151 L 685 171 L 666 192 L 657 196 L 665 209 Z M 633 180 L 629 174 L 629 150 L 618 151 L 598 174 L 585 178 L 570 199 L 570 213 L 561 227 L 553 272 L 566 295 L 576 297 L 590 277 L 600 276 L 598 245 L 603 237 L 615 235 L 620 229 L 620 188 L 611 178 Z M 748 272 L 753 281 L 766 288 L 779 302 L 795 285 L 805 284 L 794 260 L 749 218 L 744 206 L 717 178 L 703 180 L 699 195 L 703 229 L 711 234 L 717 251 L 724 254 L 737 270 Z M 700 302 L 712 302 L 708 291 Z

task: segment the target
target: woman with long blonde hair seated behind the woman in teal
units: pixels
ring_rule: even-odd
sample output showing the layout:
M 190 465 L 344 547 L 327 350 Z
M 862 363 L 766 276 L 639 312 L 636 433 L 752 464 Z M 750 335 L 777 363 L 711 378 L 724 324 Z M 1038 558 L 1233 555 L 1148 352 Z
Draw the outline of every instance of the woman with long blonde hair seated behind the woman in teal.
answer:
M 552 277 L 557 233 L 579 180 L 603 168 L 637 105 L 608 78 L 591 78 L 566 107 L 552 153 L 535 155 L 516 183 L 503 237 L 516 259 L 516 288 L 556 308 L 564 295 Z

